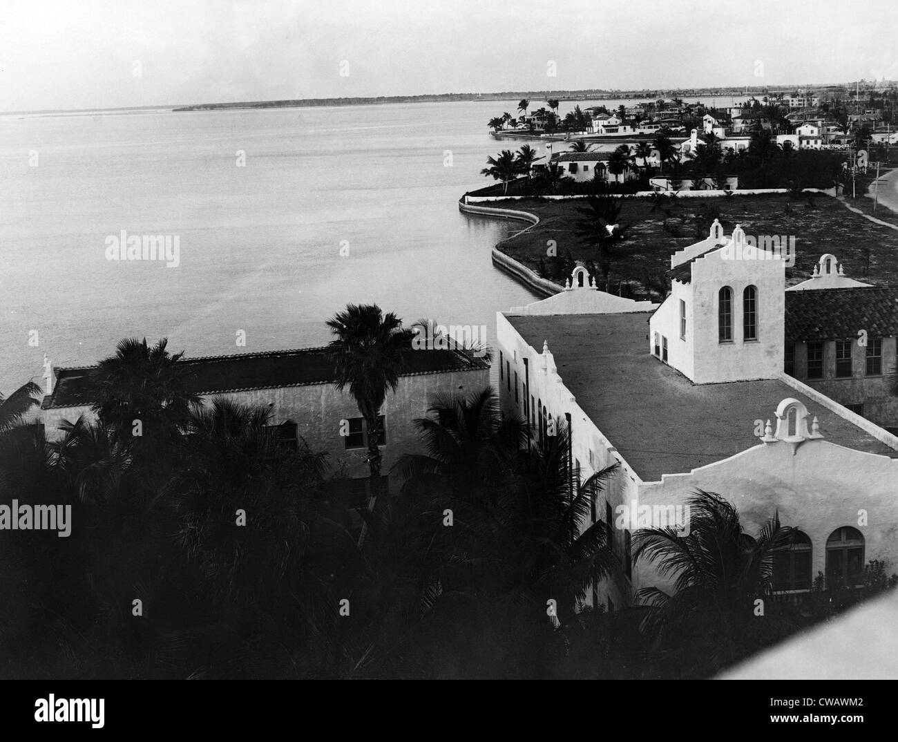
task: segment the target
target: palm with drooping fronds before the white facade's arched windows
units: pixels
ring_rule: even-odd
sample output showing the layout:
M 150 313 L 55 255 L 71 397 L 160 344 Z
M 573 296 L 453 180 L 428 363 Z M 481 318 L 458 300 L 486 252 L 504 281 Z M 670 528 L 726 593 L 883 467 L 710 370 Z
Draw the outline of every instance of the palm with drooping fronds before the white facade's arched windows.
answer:
M 640 529 L 633 560 L 655 563 L 660 577 L 674 579 L 672 593 L 658 587 L 638 592 L 647 605 L 644 630 L 672 661 L 691 663 L 684 673 L 698 665 L 709 674 L 794 629 L 773 600 L 772 581 L 774 556 L 794 529 L 774 517 L 755 540 L 720 495 L 699 490 L 688 504 L 688 534 L 673 526 Z M 753 612 L 758 599 L 763 621 Z

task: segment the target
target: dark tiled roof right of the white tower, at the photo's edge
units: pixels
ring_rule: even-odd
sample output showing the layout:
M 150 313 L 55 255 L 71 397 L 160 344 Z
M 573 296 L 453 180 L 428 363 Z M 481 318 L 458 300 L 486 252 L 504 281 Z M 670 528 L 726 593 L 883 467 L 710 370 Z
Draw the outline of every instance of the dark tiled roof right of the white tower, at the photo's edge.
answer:
M 786 340 L 898 335 L 898 287 L 820 288 L 786 292 Z

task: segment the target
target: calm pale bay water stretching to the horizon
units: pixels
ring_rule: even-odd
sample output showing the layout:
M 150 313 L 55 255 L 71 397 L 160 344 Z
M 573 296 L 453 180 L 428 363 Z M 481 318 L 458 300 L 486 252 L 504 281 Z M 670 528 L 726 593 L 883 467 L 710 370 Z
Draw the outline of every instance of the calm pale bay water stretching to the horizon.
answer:
M 489 256 L 522 225 L 463 216 L 457 199 L 486 184 L 487 155 L 522 144 L 487 133 L 515 108 L 0 116 L 0 392 L 40 380 L 45 352 L 92 364 L 131 335 L 189 356 L 320 345 L 349 302 L 485 324 L 493 340 L 495 313 L 534 298 Z M 107 261 L 122 230 L 178 235 L 180 266 Z

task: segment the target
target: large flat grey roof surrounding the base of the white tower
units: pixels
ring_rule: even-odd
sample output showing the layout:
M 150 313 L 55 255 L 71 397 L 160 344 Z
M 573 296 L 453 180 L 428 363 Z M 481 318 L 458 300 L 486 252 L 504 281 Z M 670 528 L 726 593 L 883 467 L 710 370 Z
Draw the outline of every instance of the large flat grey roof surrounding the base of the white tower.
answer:
M 506 314 L 534 349 L 549 341 L 568 390 L 643 481 L 757 446 L 753 420 L 773 420 L 787 397 L 804 402 L 832 443 L 898 458 L 898 451 L 778 379 L 692 384 L 648 352 L 651 314 Z

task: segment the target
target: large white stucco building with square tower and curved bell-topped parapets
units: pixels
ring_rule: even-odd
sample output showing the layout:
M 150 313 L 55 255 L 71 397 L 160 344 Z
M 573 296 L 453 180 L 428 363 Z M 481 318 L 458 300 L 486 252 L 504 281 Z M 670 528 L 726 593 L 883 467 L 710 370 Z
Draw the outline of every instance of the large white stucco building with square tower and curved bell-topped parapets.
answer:
M 871 559 L 898 569 L 898 437 L 784 373 L 785 263 L 746 245 L 715 224 L 672 256 L 673 290 L 653 311 L 578 300 L 592 289 L 575 276 L 574 297 L 545 300 L 554 310 L 497 315 L 502 373 L 522 384 L 501 387 L 503 408 L 536 438 L 549 420 L 568 425 L 580 481 L 618 466 L 582 526 L 612 525 L 621 569 L 587 603 L 670 587 L 632 564 L 646 524 L 621 516 L 675 517 L 696 490 L 733 502 L 752 536 L 776 513 L 798 529 L 775 564 L 779 590 L 800 594 L 818 573 L 856 585 Z

